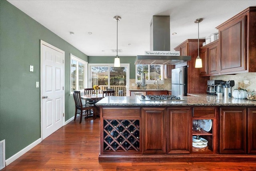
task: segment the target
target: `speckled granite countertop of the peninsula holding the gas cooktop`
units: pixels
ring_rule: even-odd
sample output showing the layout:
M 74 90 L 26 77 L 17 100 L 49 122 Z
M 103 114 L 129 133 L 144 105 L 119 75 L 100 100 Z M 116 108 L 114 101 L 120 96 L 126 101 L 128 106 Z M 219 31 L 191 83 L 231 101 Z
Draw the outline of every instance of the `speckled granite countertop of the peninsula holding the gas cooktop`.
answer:
M 140 96 L 107 96 L 97 106 L 256 106 L 256 101 L 217 97 L 208 94 L 189 94 L 180 101 L 141 101 Z

